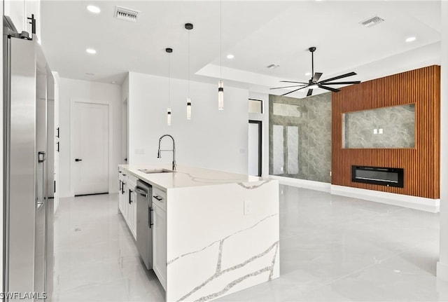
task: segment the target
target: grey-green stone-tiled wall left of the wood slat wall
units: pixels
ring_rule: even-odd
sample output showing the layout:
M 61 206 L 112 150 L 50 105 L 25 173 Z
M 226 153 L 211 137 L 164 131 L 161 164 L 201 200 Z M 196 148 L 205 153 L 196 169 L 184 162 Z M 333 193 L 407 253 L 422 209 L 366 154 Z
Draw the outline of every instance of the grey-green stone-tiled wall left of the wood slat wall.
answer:
M 331 93 L 269 95 L 269 174 L 330 183 L 330 170 Z

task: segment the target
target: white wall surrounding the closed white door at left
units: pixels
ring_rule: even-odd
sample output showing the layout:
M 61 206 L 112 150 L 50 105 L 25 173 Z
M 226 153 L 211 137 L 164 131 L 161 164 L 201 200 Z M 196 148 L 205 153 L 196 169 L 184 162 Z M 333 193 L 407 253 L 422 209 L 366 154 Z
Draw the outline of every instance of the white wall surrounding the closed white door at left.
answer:
M 109 193 L 118 192 L 117 165 L 121 163 L 121 87 L 107 83 L 72 80 L 61 78 L 59 83 L 59 197 L 73 196 L 71 183 L 71 166 L 74 157 L 70 149 L 71 138 L 71 106 L 75 100 L 109 104 L 112 135 L 112 148 L 109 150 Z

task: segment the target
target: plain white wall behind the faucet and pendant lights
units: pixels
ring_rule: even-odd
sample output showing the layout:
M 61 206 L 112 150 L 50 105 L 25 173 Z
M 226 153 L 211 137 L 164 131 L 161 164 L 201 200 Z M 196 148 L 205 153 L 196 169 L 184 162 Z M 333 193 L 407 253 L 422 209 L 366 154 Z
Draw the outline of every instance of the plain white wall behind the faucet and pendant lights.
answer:
M 224 83 L 224 110 L 218 111 L 218 83 L 190 83 L 192 119 L 186 119 L 188 82 L 171 80 L 172 125 L 167 125 L 168 79 L 129 74 L 130 165 L 171 163 L 172 154 L 157 158 L 159 137 L 176 139 L 178 164 L 247 173 L 248 91 Z M 165 138 L 162 149 L 171 149 Z

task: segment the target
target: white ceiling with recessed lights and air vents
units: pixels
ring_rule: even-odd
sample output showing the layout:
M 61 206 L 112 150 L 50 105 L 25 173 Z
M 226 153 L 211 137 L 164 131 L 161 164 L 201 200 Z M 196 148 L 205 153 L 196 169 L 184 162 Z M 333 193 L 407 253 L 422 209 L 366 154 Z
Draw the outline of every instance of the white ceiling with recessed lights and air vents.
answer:
M 88 12 L 90 4 L 102 12 Z M 113 18 L 116 5 L 140 11 L 139 20 Z M 356 71 L 358 76 L 347 81 L 366 81 L 440 64 L 440 1 L 224 0 L 221 6 L 222 57 L 220 1 L 212 0 L 42 0 L 42 47 L 59 76 L 106 83 L 121 83 L 127 71 L 167 76 L 165 48 L 172 47 L 171 76 L 188 78 L 188 31 L 183 26 L 191 22 L 192 81 L 216 83 L 222 72 L 226 85 L 256 92 L 269 92 L 281 85 L 279 80 L 307 81 L 310 46 L 317 47 L 314 71 L 323 72 L 322 79 Z M 385 21 L 370 28 L 359 24 L 374 15 Z M 416 41 L 405 42 L 409 36 Z M 235 58 L 228 60 L 229 53 Z M 273 63 L 280 67 L 266 68 Z

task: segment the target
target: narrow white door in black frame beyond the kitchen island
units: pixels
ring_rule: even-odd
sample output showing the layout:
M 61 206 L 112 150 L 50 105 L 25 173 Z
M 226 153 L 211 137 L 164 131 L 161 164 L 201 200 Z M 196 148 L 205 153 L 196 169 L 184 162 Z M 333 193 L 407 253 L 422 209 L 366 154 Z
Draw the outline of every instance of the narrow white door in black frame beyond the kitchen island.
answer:
M 261 176 L 261 122 L 249 121 L 248 174 Z

